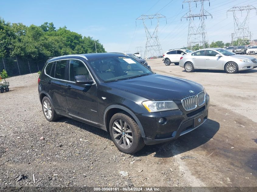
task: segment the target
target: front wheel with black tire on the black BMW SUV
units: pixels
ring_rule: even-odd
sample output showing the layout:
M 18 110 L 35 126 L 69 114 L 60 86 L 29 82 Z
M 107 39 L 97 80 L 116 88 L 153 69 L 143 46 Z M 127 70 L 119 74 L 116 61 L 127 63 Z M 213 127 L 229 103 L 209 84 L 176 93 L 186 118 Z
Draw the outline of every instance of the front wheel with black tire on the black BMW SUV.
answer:
M 109 131 L 113 143 L 123 153 L 133 154 L 144 147 L 137 123 L 127 113 L 116 113 L 110 120 Z

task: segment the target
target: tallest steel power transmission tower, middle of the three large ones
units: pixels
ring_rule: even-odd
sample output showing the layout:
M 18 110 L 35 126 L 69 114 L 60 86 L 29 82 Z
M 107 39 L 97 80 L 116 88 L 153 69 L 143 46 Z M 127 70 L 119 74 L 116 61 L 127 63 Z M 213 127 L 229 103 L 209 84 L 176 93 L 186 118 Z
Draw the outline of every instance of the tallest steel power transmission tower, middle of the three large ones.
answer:
M 208 45 L 208 38 L 207 38 L 207 32 L 205 30 L 205 22 L 204 18 L 207 19 L 207 16 L 212 15 L 204 10 L 203 4 L 205 1 L 209 2 L 210 6 L 210 0 L 185 0 L 182 3 L 188 3 L 189 4 L 189 12 L 187 12 L 182 18 L 186 18 L 186 20 L 189 19 L 189 25 L 188 25 L 188 36 L 187 36 L 187 47 L 190 47 L 190 49 L 193 48 L 194 45 L 199 45 L 199 48 L 206 48 Z M 195 2 L 197 7 L 197 2 L 201 2 L 201 10 L 200 13 L 193 14 L 192 12 L 192 5 L 191 3 Z M 183 5 L 182 5 L 183 8 Z M 199 18 L 200 23 L 196 24 L 196 21 L 194 18 Z

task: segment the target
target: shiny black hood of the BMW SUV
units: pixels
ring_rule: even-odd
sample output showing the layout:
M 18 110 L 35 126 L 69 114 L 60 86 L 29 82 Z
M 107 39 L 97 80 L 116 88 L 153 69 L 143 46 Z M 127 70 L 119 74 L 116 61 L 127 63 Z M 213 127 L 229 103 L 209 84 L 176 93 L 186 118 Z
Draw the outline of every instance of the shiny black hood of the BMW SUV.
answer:
M 203 86 L 199 83 L 156 73 L 108 84 L 153 100 L 181 100 L 203 91 Z M 194 93 L 190 93 L 189 90 Z

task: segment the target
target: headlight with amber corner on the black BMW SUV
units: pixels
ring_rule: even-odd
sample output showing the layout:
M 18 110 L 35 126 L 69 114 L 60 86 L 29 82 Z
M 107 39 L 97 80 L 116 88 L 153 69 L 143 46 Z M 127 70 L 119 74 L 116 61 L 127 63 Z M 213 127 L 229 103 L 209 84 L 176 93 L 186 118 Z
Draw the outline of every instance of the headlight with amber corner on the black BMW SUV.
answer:
M 159 112 L 179 109 L 174 101 L 144 101 L 142 105 L 148 112 Z

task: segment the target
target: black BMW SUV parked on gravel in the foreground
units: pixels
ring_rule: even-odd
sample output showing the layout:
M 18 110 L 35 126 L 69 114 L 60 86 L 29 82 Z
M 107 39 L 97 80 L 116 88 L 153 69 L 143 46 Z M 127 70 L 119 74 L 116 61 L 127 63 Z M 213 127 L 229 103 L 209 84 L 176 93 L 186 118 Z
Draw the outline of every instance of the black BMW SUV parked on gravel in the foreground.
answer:
M 65 116 L 96 126 L 124 153 L 175 139 L 208 117 L 209 95 L 202 85 L 157 74 L 115 53 L 47 60 L 38 93 L 48 121 Z

